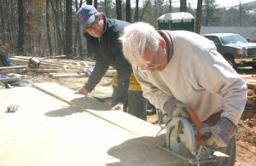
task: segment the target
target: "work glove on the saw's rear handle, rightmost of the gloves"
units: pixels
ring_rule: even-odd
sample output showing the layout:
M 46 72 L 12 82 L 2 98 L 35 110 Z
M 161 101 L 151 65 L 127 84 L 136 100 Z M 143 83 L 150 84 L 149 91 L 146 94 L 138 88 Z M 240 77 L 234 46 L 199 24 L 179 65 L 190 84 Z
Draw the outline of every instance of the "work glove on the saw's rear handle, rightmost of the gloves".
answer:
M 211 148 L 227 147 L 230 139 L 236 135 L 236 125 L 228 118 L 221 117 L 214 126 L 200 129 L 205 145 Z

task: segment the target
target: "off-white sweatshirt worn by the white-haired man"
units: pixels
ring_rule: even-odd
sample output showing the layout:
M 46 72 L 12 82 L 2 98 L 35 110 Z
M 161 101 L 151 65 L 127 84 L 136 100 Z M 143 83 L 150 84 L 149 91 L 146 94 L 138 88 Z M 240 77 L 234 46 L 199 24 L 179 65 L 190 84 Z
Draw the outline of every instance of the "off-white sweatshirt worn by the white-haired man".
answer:
M 167 100 L 192 107 L 201 122 L 224 112 L 236 124 L 247 102 L 247 85 L 205 37 L 189 31 L 167 31 L 173 54 L 161 72 L 137 72 L 143 96 L 163 110 Z M 173 106 L 175 107 L 175 106 Z

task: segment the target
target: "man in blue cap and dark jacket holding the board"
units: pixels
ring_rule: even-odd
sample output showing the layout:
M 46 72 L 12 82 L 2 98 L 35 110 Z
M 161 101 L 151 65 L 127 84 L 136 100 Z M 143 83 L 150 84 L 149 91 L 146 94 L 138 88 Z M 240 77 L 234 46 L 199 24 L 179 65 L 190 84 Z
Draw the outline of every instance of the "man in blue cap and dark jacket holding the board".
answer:
M 132 115 L 147 120 L 147 100 L 143 98 L 142 91 L 133 91 L 128 94 L 129 80 L 131 77 L 131 64 L 125 59 L 122 53 L 122 44 L 119 37 L 123 33 L 124 27 L 130 23 L 123 20 L 108 19 L 102 12 L 98 12 L 93 6 L 84 5 L 76 13 L 76 19 L 80 23 L 80 28 L 84 37 L 89 35 L 92 47 L 96 54 L 96 66 L 90 74 L 87 83 L 76 94 L 89 94 L 100 82 L 104 74 L 108 71 L 109 66 L 113 66 L 118 72 L 117 86 L 113 87 L 112 106 L 113 110 L 123 110 Z M 130 96 L 131 94 L 131 96 Z M 132 100 L 128 106 L 129 101 Z M 136 106 L 132 108 L 131 106 Z

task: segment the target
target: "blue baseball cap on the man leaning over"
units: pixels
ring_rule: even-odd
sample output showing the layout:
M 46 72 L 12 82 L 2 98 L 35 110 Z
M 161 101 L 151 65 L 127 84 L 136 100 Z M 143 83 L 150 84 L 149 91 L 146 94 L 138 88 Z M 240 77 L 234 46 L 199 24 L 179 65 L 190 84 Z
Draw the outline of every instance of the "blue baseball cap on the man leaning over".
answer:
M 80 23 L 81 30 L 83 31 L 84 28 L 92 24 L 95 20 L 94 14 L 97 10 L 91 5 L 84 5 L 79 9 L 76 13 L 76 19 Z

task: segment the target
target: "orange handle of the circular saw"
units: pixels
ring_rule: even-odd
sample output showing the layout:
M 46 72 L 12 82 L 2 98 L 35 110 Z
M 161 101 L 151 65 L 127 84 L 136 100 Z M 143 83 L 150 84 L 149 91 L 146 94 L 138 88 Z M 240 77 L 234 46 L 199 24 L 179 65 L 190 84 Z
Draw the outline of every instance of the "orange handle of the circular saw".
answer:
M 199 117 L 197 116 L 197 114 L 195 113 L 195 111 L 191 108 L 188 107 L 187 108 L 189 116 L 191 118 L 191 123 L 193 123 L 195 125 L 195 129 L 197 131 L 196 135 L 195 135 L 195 143 L 196 146 L 205 146 L 205 140 L 203 139 L 203 136 L 200 135 L 199 130 L 201 129 L 201 121 L 199 119 Z

